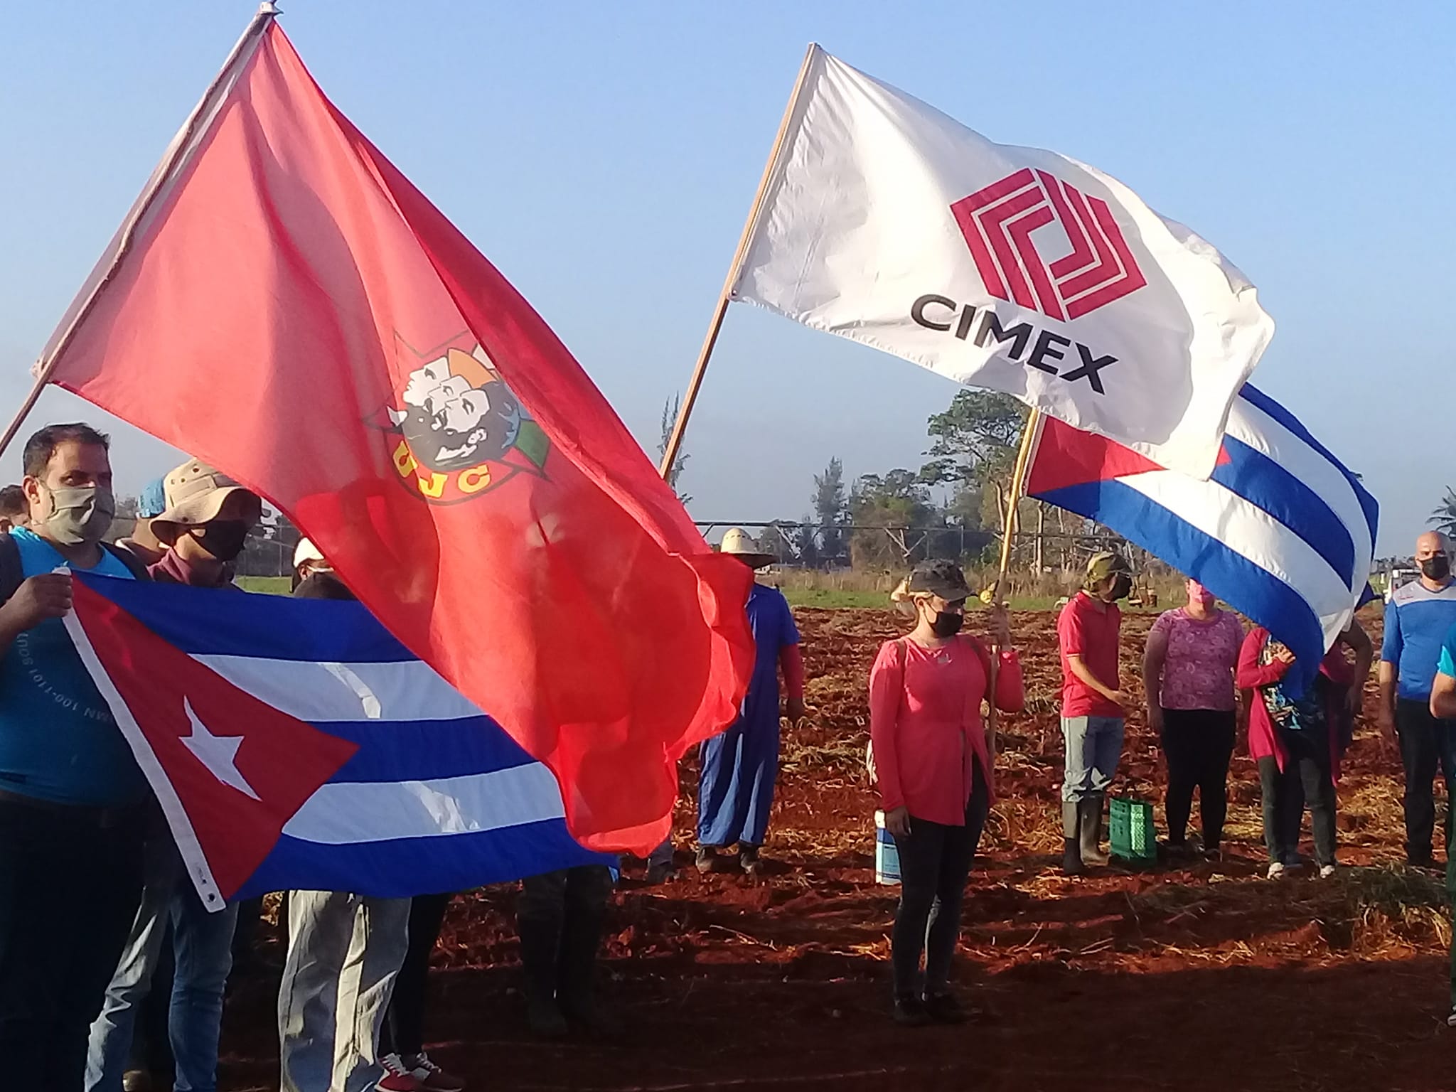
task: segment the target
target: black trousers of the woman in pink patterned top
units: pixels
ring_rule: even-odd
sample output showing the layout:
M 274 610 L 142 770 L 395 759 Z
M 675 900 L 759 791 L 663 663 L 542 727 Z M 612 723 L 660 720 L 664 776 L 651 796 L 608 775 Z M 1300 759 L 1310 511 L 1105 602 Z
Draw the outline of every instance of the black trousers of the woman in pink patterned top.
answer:
M 1217 849 L 1229 814 L 1229 759 L 1233 757 L 1235 715 L 1223 709 L 1163 709 L 1163 759 L 1168 761 L 1168 842 L 1188 837 L 1192 792 L 1198 791 L 1203 847 Z

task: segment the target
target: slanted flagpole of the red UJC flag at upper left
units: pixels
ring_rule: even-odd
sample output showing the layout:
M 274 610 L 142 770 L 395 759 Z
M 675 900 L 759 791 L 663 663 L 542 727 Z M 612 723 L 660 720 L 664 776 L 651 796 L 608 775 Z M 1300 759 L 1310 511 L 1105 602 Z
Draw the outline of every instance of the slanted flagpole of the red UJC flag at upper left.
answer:
M 243 58 L 245 52 L 250 54 L 252 48 L 262 39 L 264 31 L 268 29 L 269 23 L 272 23 L 278 15 L 278 6 L 272 3 L 272 0 L 264 0 L 264 3 L 258 6 L 258 12 L 248 23 L 248 29 L 243 31 L 243 36 L 237 39 L 233 51 L 227 54 L 227 60 L 223 63 L 223 67 L 202 93 L 202 100 L 197 103 L 188 115 L 186 122 L 182 125 L 182 130 L 172 138 L 172 144 L 163 156 L 162 163 L 154 172 L 151 172 L 151 178 L 147 179 L 146 188 L 141 191 L 141 195 L 127 214 L 125 223 L 112 240 L 109 259 L 106 255 L 102 255 L 100 264 L 98 264 L 96 269 L 92 271 L 90 278 L 87 278 L 90 282 L 89 294 L 83 298 L 79 297 L 79 303 L 71 304 L 70 320 L 66 323 L 60 335 L 55 336 L 45 348 L 39 360 L 36 360 L 32 365 L 31 374 L 35 376 L 35 383 L 31 384 L 31 393 L 25 396 L 25 402 L 20 403 L 20 409 L 16 411 L 10 424 L 6 425 L 4 432 L 0 432 L 0 454 L 4 454 L 6 448 L 10 447 L 16 432 L 20 431 L 20 425 L 25 424 L 25 418 L 32 409 L 35 409 L 35 403 L 41 397 L 41 392 L 45 389 L 45 384 L 50 383 L 51 373 L 55 371 L 55 364 L 61 358 L 61 354 L 66 352 L 66 348 L 71 344 L 71 338 L 76 335 L 76 331 L 80 329 L 82 322 L 86 320 L 92 307 L 96 306 L 96 300 L 102 290 L 111 282 L 112 275 L 131 252 L 131 243 L 135 237 L 137 226 L 141 223 L 143 217 L 151 211 L 157 197 L 166 188 L 167 182 L 172 181 L 183 156 L 195 147 L 195 137 L 198 135 L 199 124 L 205 116 L 210 118 L 213 115 L 214 108 L 217 106 L 218 93 L 223 90 L 223 84 L 227 83 L 229 77 L 236 73 L 239 60 Z M 102 268 L 103 265 L 105 268 Z M 86 288 L 83 287 L 82 291 L 86 293 Z

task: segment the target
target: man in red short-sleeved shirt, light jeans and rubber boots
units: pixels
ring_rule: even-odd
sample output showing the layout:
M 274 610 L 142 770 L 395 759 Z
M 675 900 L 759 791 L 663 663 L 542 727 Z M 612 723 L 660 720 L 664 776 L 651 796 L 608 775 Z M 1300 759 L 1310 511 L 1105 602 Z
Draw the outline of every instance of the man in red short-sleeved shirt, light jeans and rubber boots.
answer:
M 1123 757 L 1123 721 L 1128 697 L 1117 670 L 1123 612 L 1117 600 L 1133 590 L 1133 569 L 1117 553 L 1088 562 L 1082 591 L 1061 609 L 1061 737 L 1066 776 L 1061 782 L 1061 868 L 1082 875 L 1086 865 L 1105 865 L 1102 798 Z

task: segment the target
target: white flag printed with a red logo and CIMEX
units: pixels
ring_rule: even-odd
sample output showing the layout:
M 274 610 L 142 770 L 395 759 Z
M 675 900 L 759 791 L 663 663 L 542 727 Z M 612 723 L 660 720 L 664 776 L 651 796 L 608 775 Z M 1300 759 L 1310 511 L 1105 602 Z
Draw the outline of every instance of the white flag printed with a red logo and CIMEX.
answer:
M 1238 269 L 1117 179 L 817 47 L 732 298 L 1200 478 L 1274 333 Z

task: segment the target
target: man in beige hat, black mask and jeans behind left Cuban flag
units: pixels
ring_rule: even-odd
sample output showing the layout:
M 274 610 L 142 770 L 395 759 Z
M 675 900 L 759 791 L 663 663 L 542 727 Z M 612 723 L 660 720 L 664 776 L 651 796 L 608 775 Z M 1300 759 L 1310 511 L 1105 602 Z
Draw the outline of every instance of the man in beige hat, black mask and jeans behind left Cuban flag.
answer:
M 163 479 L 163 494 L 166 508 L 150 521 L 150 531 L 165 553 L 147 572 L 157 582 L 232 588 L 229 566 L 262 517 L 262 501 L 195 459 Z M 175 970 L 169 1038 L 176 1088 L 214 1092 L 237 906 L 217 913 L 204 909 L 159 817 L 149 831 L 146 872 L 131 938 L 92 1025 L 86 1088 L 121 1092 L 137 1010 L 151 987 L 170 923 Z

